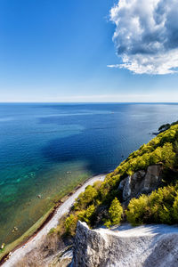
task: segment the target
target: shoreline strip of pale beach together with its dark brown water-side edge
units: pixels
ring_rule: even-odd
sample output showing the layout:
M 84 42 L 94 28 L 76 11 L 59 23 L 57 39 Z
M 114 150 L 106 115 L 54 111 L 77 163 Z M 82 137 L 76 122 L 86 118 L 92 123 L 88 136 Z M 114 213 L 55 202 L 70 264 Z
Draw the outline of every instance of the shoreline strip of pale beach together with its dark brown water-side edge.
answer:
M 13 264 L 17 263 L 23 256 L 28 254 L 32 249 L 34 249 L 41 239 L 52 229 L 58 225 L 59 219 L 69 212 L 71 206 L 73 206 L 75 199 L 78 195 L 85 190 L 88 185 L 92 185 L 96 181 L 104 181 L 106 174 L 95 175 L 81 185 L 77 186 L 73 191 L 69 192 L 64 198 L 58 201 L 58 203 L 53 207 L 52 211 L 49 212 L 44 222 L 34 231 L 32 235 L 29 235 L 27 239 L 22 241 L 19 245 L 12 248 L 11 256 L 6 259 L 10 252 L 7 252 L 0 260 L 1 266 L 11 267 Z M 62 201 L 62 199 L 64 199 Z

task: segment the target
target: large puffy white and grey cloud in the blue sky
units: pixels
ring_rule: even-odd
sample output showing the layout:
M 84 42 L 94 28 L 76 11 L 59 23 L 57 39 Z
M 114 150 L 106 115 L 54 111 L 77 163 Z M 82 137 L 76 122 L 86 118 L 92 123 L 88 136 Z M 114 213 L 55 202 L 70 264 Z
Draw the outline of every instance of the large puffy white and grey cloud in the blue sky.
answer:
M 113 41 L 125 68 L 134 73 L 178 71 L 178 1 L 119 0 L 110 10 L 116 24 Z

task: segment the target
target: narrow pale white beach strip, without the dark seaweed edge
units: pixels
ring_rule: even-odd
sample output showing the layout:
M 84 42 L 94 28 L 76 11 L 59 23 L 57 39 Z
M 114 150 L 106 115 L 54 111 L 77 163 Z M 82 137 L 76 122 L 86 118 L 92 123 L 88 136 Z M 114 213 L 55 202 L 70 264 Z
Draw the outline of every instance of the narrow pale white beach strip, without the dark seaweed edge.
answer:
M 59 206 L 55 214 L 53 214 L 53 218 L 44 225 L 44 228 L 41 231 L 38 231 L 36 236 L 32 239 L 29 239 L 24 246 L 16 249 L 12 252 L 11 257 L 2 265 L 4 267 L 12 267 L 14 264 L 18 263 L 22 257 L 28 254 L 32 249 L 38 247 L 37 245 L 40 243 L 44 235 L 46 235 L 52 228 L 58 225 L 59 219 L 61 219 L 63 214 L 69 212 L 70 207 L 73 205 L 77 196 L 83 192 L 88 185 L 92 185 L 93 182 L 103 181 L 105 178 L 105 174 L 94 176 L 93 178 L 87 180 L 84 185 L 82 185 L 72 196 L 70 196 L 61 206 Z

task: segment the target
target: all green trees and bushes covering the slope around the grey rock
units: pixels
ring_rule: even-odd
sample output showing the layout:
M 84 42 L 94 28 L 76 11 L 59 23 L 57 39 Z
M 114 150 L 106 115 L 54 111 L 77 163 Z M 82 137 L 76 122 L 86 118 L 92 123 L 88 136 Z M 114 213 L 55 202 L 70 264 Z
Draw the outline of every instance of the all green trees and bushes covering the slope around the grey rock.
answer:
M 162 126 L 163 130 L 164 127 Z M 117 190 L 119 182 L 138 170 L 161 164 L 165 177 L 162 188 L 150 196 L 142 195 L 132 199 L 123 211 L 122 196 Z M 65 231 L 74 234 L 77 221 L 88 223 L 91 227 L 97 223 L 106 226 L 118 224 L 122 218 L 134 225 L 140 223 L 177 223 L 178 222 L 178 125 L 170 125 L 168 130 L 143 144 L 126 158 L 116 170 L 108 174 L 104 182 L 89 185 L 76 199 L 75 205 L 65 219 Z M 101 213 L 104 207 L 105 212 Z M 98 219 L 99 218 L 99 219 Z

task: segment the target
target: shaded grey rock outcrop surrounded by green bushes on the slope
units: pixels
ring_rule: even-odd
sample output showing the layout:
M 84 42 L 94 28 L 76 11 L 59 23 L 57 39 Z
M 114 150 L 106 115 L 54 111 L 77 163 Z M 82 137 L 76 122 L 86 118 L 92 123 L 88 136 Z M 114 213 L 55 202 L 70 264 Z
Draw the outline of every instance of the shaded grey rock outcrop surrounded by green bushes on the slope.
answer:
M 118 190 L 122 190 L 123 200 L 138 198 L 143 193 L 149 194 L 152 190 L 158 189 L 162 180 L 162 170 L 161 165 L 153 165 L 149 166 L 146 172 L 141 170 L 126 177 L 118 187 Z

